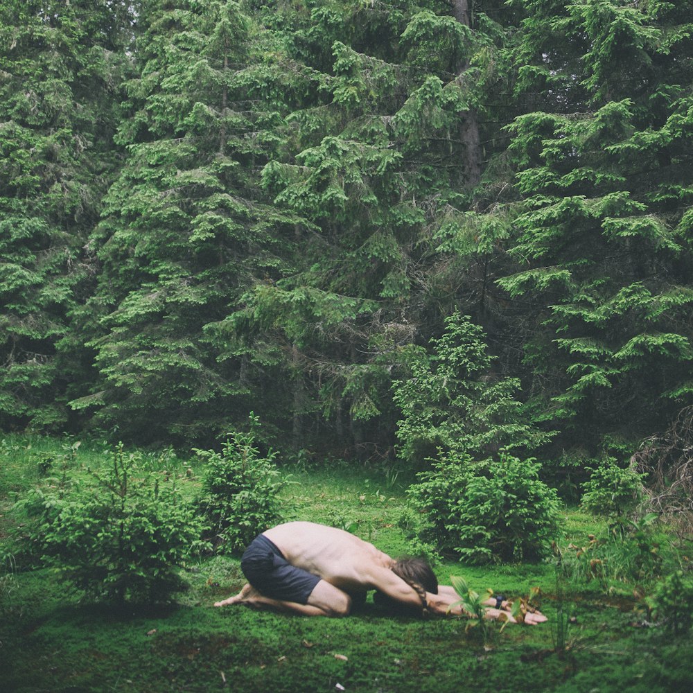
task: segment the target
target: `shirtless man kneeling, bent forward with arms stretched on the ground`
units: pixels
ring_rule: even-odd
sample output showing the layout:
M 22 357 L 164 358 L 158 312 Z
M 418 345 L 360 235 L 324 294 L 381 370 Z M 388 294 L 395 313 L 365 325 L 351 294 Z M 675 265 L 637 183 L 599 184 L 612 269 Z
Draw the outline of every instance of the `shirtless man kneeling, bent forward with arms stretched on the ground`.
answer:
M 326 525 L 292 522 L 267 529 L 247 547 L 240 568 L 249 584 L 214 606 L 346 616 L 353 604 L 365 602 L 368 590 L 376 590 L 376 600 L 419 613 L 462 613 L 459 606 L 450 609 L 459 597 L 452 587 L 439 586 L 426 561 L 394 561 L 358 536 Z M 486 618 L 515 622 L 507 602 L 485 603 L 495 605 L 486 609 Z M 528 624 L 545 620 L 538 612 L 525 615 Z

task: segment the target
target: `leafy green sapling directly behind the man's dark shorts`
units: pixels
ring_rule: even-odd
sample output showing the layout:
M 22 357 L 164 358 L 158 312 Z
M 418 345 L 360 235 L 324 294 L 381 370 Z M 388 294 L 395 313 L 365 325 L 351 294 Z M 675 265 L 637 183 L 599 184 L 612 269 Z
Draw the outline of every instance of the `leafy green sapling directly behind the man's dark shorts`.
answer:
M 221 452 L 195 450 L 204 460 L 200 510 L 211 525 L 220 552 L 239 552 L 265 529 L 283 520 L 279 492 L 287 481 L 274 464 L 277 453 L 255 447 L 259 419 L 250 414 L 250 431 L 231 433 Z

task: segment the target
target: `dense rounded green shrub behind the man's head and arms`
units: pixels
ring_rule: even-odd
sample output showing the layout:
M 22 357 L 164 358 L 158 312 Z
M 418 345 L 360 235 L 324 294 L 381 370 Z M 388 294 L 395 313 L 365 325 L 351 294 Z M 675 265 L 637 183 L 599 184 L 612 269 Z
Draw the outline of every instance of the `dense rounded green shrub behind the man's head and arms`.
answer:
M 535 459 L 440 459 L 407 494 L 430 521 L 424 541 L 475 563 L 541 558 L 559 527 L 559 500 Z

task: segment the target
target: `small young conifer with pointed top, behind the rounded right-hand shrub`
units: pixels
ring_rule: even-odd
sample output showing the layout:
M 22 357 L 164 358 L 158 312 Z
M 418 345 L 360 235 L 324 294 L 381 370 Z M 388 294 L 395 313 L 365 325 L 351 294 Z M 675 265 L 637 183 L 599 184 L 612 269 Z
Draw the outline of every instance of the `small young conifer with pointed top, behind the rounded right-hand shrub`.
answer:
M 430 342 L 431 353 L 410 347 L 403 354 L 407 377 L 396 380 L 394 402 L 399 453 L 421 469 L 436 455 L 469 455 L 483 459 L 499 448 L 532 450 L 550 438 L 523 420 L 522 405 L 514 398 L 518 380 L 493 382 L 489 356 L 480 326 L 453 313 L 445 332 Z

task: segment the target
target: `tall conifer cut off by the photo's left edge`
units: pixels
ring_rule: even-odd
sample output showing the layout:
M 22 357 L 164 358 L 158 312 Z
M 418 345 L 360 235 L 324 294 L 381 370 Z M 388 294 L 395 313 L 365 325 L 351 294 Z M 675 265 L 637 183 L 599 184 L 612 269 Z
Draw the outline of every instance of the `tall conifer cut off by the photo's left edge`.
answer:
M 0 427 L 62 428 L 57 347 L 92 272 L 82 256 L 112 175 L 131 3 L 0 7 Z

